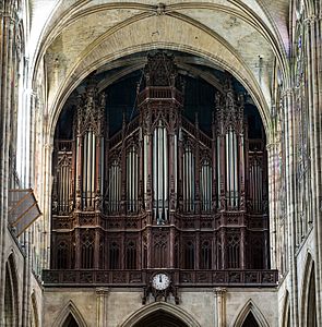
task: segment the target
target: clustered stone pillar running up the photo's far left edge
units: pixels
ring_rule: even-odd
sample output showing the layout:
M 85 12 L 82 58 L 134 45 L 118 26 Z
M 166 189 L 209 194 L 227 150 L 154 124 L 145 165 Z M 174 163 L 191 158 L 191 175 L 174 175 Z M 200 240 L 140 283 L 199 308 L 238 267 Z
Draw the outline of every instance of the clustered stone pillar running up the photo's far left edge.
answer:
M 8 232 L 8 189 L 10 181 L 9 147 L 11 144 L 12 100 L 16 100 L 17 49 L 16 33 L 19 8 L 12 0 L 0 1 L 0 325 L 4 305 L 5 283 L 5 233 Z

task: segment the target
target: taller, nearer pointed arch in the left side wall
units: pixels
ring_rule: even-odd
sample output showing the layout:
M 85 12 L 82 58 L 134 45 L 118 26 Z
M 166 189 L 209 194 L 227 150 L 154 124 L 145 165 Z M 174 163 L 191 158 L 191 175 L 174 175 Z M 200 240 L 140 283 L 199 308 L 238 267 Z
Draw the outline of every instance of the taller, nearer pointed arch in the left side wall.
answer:
M 4 286 L 4 325 L 19 326 L 19 287 L 16 265 L 13 253 L 5 263 L 5 286 Z

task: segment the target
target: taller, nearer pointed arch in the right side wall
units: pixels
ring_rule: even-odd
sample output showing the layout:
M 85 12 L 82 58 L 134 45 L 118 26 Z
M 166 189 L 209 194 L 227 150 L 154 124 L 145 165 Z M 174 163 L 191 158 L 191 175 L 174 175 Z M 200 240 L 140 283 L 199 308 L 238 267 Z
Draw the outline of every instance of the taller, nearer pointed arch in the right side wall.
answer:
M 317 326 L 315 269 L 311 253 L 306 258 L 305 274 L 301 288 L 302 326 Z

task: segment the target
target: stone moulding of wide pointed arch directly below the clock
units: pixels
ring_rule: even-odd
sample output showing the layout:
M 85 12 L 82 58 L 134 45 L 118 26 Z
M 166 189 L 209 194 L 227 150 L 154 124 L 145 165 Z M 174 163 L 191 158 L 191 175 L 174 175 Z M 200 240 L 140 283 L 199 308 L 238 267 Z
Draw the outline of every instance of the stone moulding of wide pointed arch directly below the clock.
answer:
M 140 323 L 140 320 L 159 311 L 174 316 L 175 318 L 181 320 L 183 324 L 186 324 L 189 327 L 201 327 L 200 324 L 184 310 L 182 310 L 177 305 L 169 304 L 167 302 L 154 302 L 150 305 L 140 308 L 139 311 L 133 313 L 130 317 L 128 317 L 126 322 L 120 325 L 120 327 L 135 326 L 135 324 Z

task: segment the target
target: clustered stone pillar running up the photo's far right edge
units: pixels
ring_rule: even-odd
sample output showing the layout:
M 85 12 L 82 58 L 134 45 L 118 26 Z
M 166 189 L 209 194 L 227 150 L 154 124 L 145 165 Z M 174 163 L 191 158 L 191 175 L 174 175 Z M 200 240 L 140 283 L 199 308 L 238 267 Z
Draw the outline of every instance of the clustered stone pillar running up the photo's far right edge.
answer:
M 318 1 L 319 2 L 319 1 Z M 317 3 L 318 3 L 317 2 Z M 322 301 L 322 13 L 311 13 L 306 20 L 306 57 L 307 60 L 307 81 L 308 81 L 308 108 L 310 126 L 310 156 L 312 174 L 312 220 L 314 227 L 314 256 L 315 256 L 315 288 L 317 288 L 317 318 L 318 326 L 322 324 L 321 301 Z

